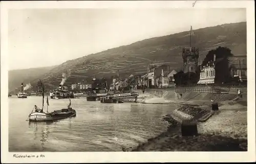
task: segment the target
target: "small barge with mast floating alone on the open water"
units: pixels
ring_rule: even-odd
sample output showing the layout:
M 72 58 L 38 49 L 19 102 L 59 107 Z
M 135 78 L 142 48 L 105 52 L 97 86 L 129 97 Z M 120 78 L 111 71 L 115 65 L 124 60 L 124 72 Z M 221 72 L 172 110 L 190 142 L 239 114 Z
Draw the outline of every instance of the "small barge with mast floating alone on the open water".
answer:
M 34 106 L 32 112 L 29 114 L 29 121 L 42 122 L 42 121 L 56 121 L 76 116 L 76 111 L 71 108 L 71 100 L 67 109 L 54 110 L 48 112 L 49 100 L 47 96 L 47 112 L 44 112 L 44 84 L 42 84 L 42 109 Z

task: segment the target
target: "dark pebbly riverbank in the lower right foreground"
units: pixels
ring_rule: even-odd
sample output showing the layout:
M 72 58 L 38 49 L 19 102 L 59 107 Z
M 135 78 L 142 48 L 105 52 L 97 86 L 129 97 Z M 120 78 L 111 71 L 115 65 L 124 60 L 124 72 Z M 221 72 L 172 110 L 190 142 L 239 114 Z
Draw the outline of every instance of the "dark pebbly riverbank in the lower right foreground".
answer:
M 209 120 L 198 122 L 198 136 L 182 137 L 180 123 L 168 114 L 170 126 L 165 132 L 123 151 L 247 151 L 247 106 L 227 101 L 220 105 Z M 200 119 L 204 115 L 200 112 L 209 106 L 196 108 L 181 106 L 179 111 Z

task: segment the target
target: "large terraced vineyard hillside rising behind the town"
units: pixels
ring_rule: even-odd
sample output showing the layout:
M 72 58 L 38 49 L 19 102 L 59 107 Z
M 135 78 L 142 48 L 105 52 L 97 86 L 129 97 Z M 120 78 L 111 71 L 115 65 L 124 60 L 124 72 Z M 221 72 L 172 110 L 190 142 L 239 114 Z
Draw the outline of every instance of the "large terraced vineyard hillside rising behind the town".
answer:
M 101 78 L 116 75 L 118 69 L 121 77 L 142 74 L 147 71 L 147 64 L 153 62 L 169 62 L 170 69 L 179 69 L 182 65 L 182 48 L 189 46 L 188 34 L 189 31 L 186 31 L 145 39 L 69 60 L 54 67 L 44 76 L 40 77 L 43 75 L 40 74 L 38 77 L 46 83 L 57 86 L 61 82 L 62 73 L 70 74 L 65 85 L 71 85 L 82 79 L 91 79 L 93 76 Z M 246 55 L 246 22 L 194 30 L 192 45 L 199 48 L 199 61 L 204 59 L 209 50 L 216 49 L 218 46 L 226 46 L 235 56 Z

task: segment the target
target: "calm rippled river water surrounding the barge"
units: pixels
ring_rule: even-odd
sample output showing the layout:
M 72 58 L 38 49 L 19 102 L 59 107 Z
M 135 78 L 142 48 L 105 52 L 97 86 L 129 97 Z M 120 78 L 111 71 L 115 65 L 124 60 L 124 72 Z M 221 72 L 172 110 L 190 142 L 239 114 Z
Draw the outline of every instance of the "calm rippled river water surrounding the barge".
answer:
M 75 118 L 54 123 L 29 123 L 33 106 L 41 97 L 9 98 L 10 152 L 122 151 L 166 130 L 161 121 L 174 106 L 156 104 L 102 104 L 86 98 L 72 99 Z M 45 101 L 46 102 L 46 101 Z M 66 108 L 69 99 L 49 99 L 49 112 Z M 44 108 L 46 110 L 46 106 Z

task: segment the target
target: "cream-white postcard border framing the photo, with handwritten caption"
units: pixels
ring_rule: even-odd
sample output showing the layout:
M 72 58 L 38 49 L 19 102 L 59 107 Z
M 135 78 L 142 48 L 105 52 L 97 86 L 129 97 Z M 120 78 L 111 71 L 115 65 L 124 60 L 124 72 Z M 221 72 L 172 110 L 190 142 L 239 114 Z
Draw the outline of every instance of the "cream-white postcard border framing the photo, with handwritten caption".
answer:
M 33 1 L 1 2 L 1 162 L 242 162 L 255 161 L 255 23 L 254 1 L 197 1 L 194 8 L 246 8 L 248 75 L 247 152 L 8 152 L 8 10 L 39 8 L 193 8 L 195 1 Z M 214 16 L 214 15 L 213 15 Z M 19 109 L 17 109 L 19 110 Z M 45 157 L 15 158 L 19 155 Z

